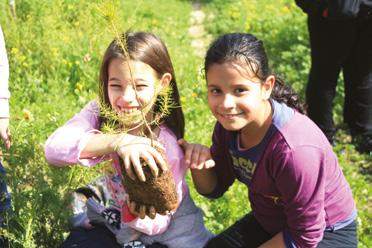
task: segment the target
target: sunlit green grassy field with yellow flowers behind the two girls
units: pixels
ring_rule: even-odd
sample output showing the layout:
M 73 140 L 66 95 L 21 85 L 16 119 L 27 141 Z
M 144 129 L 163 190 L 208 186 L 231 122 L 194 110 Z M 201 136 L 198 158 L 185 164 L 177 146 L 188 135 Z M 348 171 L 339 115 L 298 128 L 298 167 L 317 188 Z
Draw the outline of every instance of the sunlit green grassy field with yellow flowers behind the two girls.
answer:
M 186 139 L 210 144 L 214 119 L 206 105 L 203 60 L 193 55 L 188 35 L 191 2 L 186 0 L 17 0 L 17 19 L 0 2 L 0 24 L 10 63 L 10 151 L 3 149 L 13 214 L 5 235 L 14 247 L 57 247 L 68 233 L 69 193 L 99 175 L 100 168 L 55 168 L 44 158 L 43 143 L 95 98 L 100 59 L 120 30 L 151 31 L 167 44 L 186 115 Z M 205 28 L 213 37 L 251 32 L 264 40 L 272 67 L 303 96 L 309 69 L 306 17 L 291 0 L 201 0 Z M 342 85 L 340 81 L 340 86 Z M 335 100 L 342 121 L 343 88 Z M 372 247 L 372 158 L 358 154 L 345 130 L 338 132 L 338 155 L 358 207 L 360 247 Z M 205 221 L 219 232 L 249 211 L 243 185 L 209 201 L 192 187 Z

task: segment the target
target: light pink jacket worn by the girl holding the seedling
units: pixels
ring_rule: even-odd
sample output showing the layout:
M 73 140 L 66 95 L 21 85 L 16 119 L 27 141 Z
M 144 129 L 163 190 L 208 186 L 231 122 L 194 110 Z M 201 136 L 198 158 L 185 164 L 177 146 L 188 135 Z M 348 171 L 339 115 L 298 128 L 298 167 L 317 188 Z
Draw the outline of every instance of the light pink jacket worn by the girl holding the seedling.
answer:
M 80 113 L 76 114 L 65 125 L 58 128 L 46 141 L 45 156 L 50 164 L 56 166 L 68 166 L 72 164 L 81 164 L 83 166 L 95 166 L 99 162 L 107 160 L 110 156 L 97 157 L 91 159 L 80 159 L 80 153 L 86 146 L 89 139 L 101 132 L 98 118 L 99 109 L 95 101 L 89 102 Z M 159 140 L 166 149 L 167 161 L 173 174 L 179 202 L 188 194 L 188 188 L 185 180 L 187 166 L 184 164 L 183 151 L 177 144 L 177 139 L 172 131 L 166 126 L 160 126 Z M 115 161 L 115 159 L 113 159 Z M 117 173 L 120 174 L 120 168 L 113 163 Z M 116 185 L 115 185 L 116 184 Z M 122 216 L 127 215 L 124 206 L 123 193 L 125 189 L 122 185 L 113 182 L 111 185 L 120 192 L 115 197 L 117 206 L 121 206 Z M 146 217 L 145 219 L 135 218 L 126 225 L 147 235 L 156 235 L 167 230 L 171 215 L 156 215 L 155 219 Z

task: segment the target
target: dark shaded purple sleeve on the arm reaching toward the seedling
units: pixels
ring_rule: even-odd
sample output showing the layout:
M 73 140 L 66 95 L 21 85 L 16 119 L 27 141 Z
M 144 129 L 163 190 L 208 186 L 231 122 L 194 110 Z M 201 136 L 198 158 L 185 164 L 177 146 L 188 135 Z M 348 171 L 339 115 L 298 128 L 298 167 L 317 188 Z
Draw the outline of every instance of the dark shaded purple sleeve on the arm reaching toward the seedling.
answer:
M 214 199 L 221 197 L 235 181 L 235 174 L 229 153 L 228 133 L 218 122 L 213 130 L 210 150 L 215 162 L 214 169 L 217 174 L 217 186 L 211 193 L 203 195 Z

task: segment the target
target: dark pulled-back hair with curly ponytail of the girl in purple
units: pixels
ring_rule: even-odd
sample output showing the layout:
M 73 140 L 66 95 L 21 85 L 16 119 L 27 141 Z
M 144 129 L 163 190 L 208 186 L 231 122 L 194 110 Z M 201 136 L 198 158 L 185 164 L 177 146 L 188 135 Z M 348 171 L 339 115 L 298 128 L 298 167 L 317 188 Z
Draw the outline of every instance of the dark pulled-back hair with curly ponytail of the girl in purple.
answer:
M 230 33 L 217 38 L 209 47 L 204 61 L 205 75 L 213 64 L 226 62 L 237 63 L 248 69 L 264 82 L 270 75 L 274 75 L 270 68 L 263 42 L 252 34 Z M 300 113 L 305 113 L 305 108 L 300 102 L 299 96 L 293 89 L 285 85 L 283 80 L 275 76 L 275 85 L 271 98 L 284 102 L 295 108 Z

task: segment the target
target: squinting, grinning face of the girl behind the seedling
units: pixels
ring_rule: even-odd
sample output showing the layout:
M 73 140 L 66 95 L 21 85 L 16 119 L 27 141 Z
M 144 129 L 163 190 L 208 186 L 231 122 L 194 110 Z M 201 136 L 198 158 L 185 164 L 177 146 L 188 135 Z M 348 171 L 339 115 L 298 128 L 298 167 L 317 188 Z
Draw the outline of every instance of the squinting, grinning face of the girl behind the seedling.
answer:
M 140 114 L 141 106 L 153 103 L 158 82 L 155 70 L 148 64 L 113 59 L 108 67 L 107 87 L 111 107 L 126 116 Z

